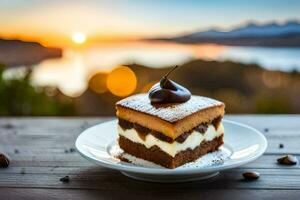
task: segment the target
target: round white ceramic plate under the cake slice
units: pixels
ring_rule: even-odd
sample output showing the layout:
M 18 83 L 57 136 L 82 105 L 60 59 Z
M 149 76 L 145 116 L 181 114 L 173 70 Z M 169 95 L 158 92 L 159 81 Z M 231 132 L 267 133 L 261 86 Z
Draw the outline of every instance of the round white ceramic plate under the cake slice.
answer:
M 117 120 L 93 126 L 76 140 L 78 152 L 103 167 L 121 171 L 131 178 L 153 182 L 183 182 L 210 178 L 220 171 L 249 163 L 267 148 L 265 136 L 256 129 L 233 121 L 223 120 L 224 145 L 219 151 L 207 154 L 195 162 L 176 169 L 166 169 L 136 159 L 136 165 L 116 158 Z

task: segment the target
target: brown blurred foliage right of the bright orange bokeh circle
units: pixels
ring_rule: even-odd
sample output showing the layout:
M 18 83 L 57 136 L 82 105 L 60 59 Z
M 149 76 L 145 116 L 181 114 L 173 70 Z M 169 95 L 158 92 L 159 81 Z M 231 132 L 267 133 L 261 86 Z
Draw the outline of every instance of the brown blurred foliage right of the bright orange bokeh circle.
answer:
M 130 67 L 138 77 L 137 93 L 170 69 Z M 194 95 L 225 102 L 227 113 L 300 113 L 300 74 L 297 71 L 268 71 L 259 65 L 231 61 L 192 60 L 178 68 L 171 78 Z

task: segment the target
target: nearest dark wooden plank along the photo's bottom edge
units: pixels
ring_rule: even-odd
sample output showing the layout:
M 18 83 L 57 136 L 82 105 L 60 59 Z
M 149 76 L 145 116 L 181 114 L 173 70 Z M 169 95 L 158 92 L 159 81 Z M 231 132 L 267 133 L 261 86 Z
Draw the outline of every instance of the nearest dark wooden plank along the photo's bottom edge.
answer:
M 101 200 L 124 199 L 124 193 L 107 190 L 82 189 L 31 189 L 31 188 L 0 188 L 4 200 L 40 200 L 40 199 L 71 199 L 71 200 Z M 295 190 L 134 190 L 126 192 L 126 199 L 205 199 L 205 200 L 232 200 L 232 199 L 299 199 L 300 191 Z

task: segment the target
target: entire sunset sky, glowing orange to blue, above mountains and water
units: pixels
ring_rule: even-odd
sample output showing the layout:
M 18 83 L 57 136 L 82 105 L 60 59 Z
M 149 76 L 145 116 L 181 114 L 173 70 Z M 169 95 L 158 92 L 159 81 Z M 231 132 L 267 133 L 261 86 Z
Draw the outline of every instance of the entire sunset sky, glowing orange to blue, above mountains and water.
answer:
M 253 20 L 299 18 L 300 2 L 253 0 L 7 0 L 0 3 L 0 37 L 34 40 L 45 45 L 74 45 L 81 32 L 87 43 L 182 34 L 212 26 L 229 29 Z M 255 15 L 253 15 L 255 13 Z

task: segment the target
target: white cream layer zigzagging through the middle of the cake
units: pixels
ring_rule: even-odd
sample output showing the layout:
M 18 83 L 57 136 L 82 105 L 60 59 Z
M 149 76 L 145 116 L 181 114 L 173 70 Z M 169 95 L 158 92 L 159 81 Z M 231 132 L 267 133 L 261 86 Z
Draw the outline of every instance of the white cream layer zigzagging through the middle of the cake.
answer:
M 222 123 L 217 130 L 213 125 L 209 125 L 207 131 L 204 134 L 198 131 L 193 131 L 183 143 L 179 143 L 176 141 L 174 141 L 173 143 L 168 143 L 157 139 L 152 134 L 148 134 L 145 140 L 143 140 L 133 128 L 124 131 L 120 126 L 118 126 L 118 133 L 119 135 L 131 140 L 132 142 L 143 144 L 147 148 L 151 148 L 152 146 L 156 145 L 162 151 L 166 152 L 172 157 L 175 157 L 175 155 L 180 151 L 184 151 L 186 149 L 193 150 L 194 148 L 199 146 L 202 141 L 211 141 L 214 138 L 223 135 L 224 128 Z

